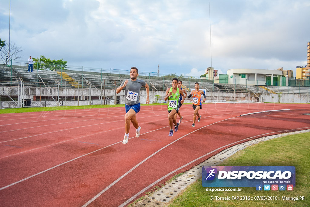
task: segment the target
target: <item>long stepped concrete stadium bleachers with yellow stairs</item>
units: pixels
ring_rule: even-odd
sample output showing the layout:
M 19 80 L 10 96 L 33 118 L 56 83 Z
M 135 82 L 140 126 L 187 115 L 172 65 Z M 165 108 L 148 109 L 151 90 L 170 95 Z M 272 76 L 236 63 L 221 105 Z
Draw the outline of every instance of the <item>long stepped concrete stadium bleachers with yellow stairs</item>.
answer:
M 50 70 L 33 70 L 33 73 L 28 73 L 26 66 L 7 67 L 0 64 L 0 84 L 2 86 L 17 86 L 19 81 L 24 82 L 24 86 L 43 86 L 57 87 L 57 83 L 64 87 L 80 87 L 80 88 L 117 88 L 124 79 L 129 77 L 128 74 L 113 74 L 88 72 L 78 70 L 50 71 Z M 12 74 L 12 75 L 11 75 Z M 12 79 L 11 79 L 12 77 Z M 150 90 L 165 91 L 170 87 L 172 78 L 163 78 L 158 76 L 143 76 L 139 75 L 139 79 L 143 79 L 149 84 Z M 206 89 L 206 92 L 224 92 L 224 93 L 289 93 L 289 94 L 310 94 L 309 87 L 278 87 L 278 86 L 255 86 L 255 85 L 238 85 L 238 84 L 223 84 L 213 83 L 210 80 L 181 78 L 183 88 L 187 91 L 194 88 L 194 83 L 198 82 L 201 89 Z M 144 90 L 145 88 L 141 88 Z

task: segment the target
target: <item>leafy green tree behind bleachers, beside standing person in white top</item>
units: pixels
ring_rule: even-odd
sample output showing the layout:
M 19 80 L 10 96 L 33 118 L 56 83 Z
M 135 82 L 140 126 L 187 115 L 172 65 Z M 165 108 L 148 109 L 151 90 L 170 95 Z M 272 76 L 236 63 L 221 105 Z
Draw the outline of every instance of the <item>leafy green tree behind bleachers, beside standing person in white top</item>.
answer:
M 61 68 L 65 69 L 67 67 L 67 61 L 63 61 L 62 59 L 51 60 L 43 55 L 40 58 L 33 58 L 33 61 L 35 61 L 33 67 L 39 68 L 39 70 L 61 70 Z

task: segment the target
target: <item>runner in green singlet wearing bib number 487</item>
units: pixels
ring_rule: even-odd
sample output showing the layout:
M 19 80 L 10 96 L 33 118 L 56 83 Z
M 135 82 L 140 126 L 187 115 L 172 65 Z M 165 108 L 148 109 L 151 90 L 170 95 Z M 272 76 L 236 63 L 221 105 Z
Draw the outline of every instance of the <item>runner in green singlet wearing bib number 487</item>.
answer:
M 179 111 L 179 99 L 180 95 L 185 99 L 184 93 L 178 86 L 179 80 L 177 78 L 172 79 L 172 87 L 167 88 L 165 101 L 168 100 L 168 119 L 169 119 L 169 137 L 173 136 L 172 123 L 175 125 L 174 131 L 178 131 L 179 123 L 176 123 L 175 114 Z

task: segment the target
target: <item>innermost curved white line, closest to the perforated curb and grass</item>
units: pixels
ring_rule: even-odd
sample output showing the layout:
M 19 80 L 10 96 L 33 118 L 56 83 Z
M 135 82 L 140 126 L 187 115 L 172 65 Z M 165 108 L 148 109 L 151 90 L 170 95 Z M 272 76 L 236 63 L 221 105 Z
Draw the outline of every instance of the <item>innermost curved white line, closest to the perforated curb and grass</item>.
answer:
M 307 127 L 303 127 L 303 128 L 307 128 Z M 296 129 L 292 129 L 292 130 L 303 129 L 303 128 L 296 128 Z M 272 132 L 272 133 L 281 133 L 281 132 L 286 132 L 286 131 L 287 131 L 287 130 L 283 130 L 283 131 Z M 260 134 L 260 135 L 254 136 L 254 137 L 264 136 L 264 135 L 267 135 L 267 134 L 271 134 L 271 133 Z M 239 140 L 239 141 L 237 141 L 237 142 L 232 142 L 232 143 L 230 143 L 230 144 L 228 144 L 228 145 L 219 147 L 219 148 L 217 148 L 217 149 L 215 149 L 215 150 L 213 150 L 213 151 L 211 151 L 211 152 L 208 152 L 208 153 L 205 154 L 205 155 L 202 155 L 202 156 L 196 158 L 196 159 L 193 160 L 193 161 L 190 161 L 190 162 L 187 163 L 187 164 L 184 164 L 183 166 L 181 166 L 181 167 L 175 169 L 174 171 L 171 171 L 170 173 L 168 173 L 168 174 L 164 175 L 163 177 L 159 178 L 158 180 L 154 181 L 152 184 L 150 184 L 149 186 L 145 187 L 144 189 L 142 189 L 141 191 L 139 191 L 138 193 L 136 193 L 134 196 L 132 196 L 131 198 L 129 198 L 128 200 L 126 200 L 124 203 L 122 203 L 121 205 L 119 205 L 119 207 L 123 207 L 123 206 L 127 205 L 129 202 L 131 202 L 132 200 L 134 200 L 137 196 L 139 196 L 139 195 L 140 195 L 141 193 L 143 193 L 144 191 L 148 190 L 150 187 L 152 187 L 152 186 L 155 185 L 156 183 L 158 183 L 158 182 L 160 182 L 161 180 L 167 178 L 169 175 L 171 175 L 171 174 L 177 172 L 178 170 L 180 170 L 180 169 L 182 169 L 182 168 L 188 166 L 189 164 L 192 164 L 193 162 L 196 162 L 197 160 L 200 160 L 201 158 L 206 157 L 206 156 L 210 155 L 211 153 L 213 153 L 213 152 L 215 152 L 215 151 L 218 151 L 218 150 L 220 150 L 220 149 L 223 149 L 224 147 L 227 147 L 227 146 L 230 146 L 230 145 L 234 145 L 234 144 L 237 144 L 238 142 L 242 142 L 242 141 L 245 141 L 245 140 L 254 138 L 254 137 L 249 137 L 249 138 L 246 138 L 246 139 L 243 139 L 243 140 Z

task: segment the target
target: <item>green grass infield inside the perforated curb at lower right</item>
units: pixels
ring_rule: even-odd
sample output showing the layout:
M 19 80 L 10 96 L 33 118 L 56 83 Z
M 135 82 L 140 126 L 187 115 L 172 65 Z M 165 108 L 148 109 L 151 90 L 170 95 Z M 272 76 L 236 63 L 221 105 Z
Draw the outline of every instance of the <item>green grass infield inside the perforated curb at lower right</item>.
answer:
M 206 191 L 201 179 L 192 184 L 169 206 L 309 206 L 310 205 L 310 133 L 275 138 L 247 147 L 225 160 L 220 166 L 295 166 L 296 186 L 293 191 Z M 210 200 L 211 196 L 304 196 L 305 200 Z

